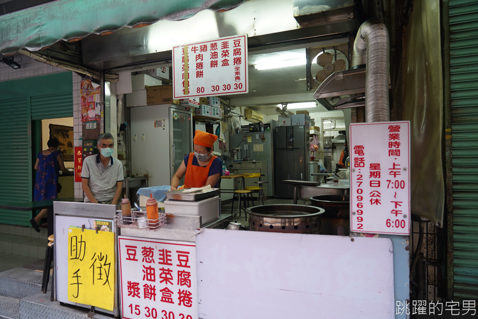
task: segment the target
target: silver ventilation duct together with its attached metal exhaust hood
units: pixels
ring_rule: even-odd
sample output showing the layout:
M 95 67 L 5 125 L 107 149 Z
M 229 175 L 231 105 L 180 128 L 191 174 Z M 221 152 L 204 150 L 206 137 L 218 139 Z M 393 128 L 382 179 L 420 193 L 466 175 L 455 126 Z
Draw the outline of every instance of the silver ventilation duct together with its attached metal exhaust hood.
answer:
M 379 20 L 365 21 L 355 39 L 352 69 L 332 73 L 314 98 L 329 110 L 365 105 L 366 122 L 389 121 L 388 54 L 385 25 Z

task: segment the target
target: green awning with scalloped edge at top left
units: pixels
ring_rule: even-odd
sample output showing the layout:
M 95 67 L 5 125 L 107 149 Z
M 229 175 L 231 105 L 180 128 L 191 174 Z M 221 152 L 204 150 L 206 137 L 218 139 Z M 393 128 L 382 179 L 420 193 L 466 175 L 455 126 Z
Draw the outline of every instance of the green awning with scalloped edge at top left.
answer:
M 247 0 L 58 0 L 0 16 L 0 53 L 37 51 L 158 20 L 183 20 L 204 9 L 224 11 Z

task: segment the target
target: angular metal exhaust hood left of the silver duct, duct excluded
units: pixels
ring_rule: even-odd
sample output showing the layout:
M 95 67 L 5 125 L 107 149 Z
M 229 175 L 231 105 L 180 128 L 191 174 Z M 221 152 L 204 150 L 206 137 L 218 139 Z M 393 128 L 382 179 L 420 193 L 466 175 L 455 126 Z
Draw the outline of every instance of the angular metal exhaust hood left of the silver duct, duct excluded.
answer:
M 327 110 L 365 105 L 365 67 L 330 74 L 314 93 Z

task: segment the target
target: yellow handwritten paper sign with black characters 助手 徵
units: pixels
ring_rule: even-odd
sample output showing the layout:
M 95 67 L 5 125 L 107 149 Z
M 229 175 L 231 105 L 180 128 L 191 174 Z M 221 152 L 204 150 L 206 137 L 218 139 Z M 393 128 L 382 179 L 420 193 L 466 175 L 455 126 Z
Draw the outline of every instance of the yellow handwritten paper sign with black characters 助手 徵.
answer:
M 114 233 L 68 229 L 68 300 L 113 310 Z

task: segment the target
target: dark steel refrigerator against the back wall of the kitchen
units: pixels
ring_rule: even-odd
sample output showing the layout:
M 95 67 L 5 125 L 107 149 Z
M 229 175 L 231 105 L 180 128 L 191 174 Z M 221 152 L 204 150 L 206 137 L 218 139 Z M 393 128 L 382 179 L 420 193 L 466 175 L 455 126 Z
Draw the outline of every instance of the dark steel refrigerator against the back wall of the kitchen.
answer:
M 274 129 L 274 187 L 277 197 L 293 197 L 286 179 L 308 181 L 309 127 L 279 126 Z

